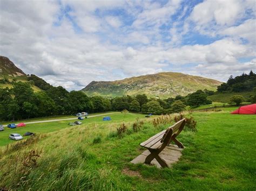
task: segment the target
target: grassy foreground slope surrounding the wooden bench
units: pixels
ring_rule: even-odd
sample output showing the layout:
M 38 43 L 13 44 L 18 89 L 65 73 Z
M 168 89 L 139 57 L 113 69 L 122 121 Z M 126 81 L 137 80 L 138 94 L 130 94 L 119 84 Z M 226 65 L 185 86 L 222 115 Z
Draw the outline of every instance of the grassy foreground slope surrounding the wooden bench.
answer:
M 154 127 L 151 119 L 141 115 L 144 125 L 138 132 L 132 131 L 137 116 L 131 114 L 113 115 L 106 123 L 95 117 L 69 128 L 66 122 L 59 123 L 59 131 L 2 147 L 0 188 L 255 190 L 256 115 L 230 115 L 236 108 L 189 114 L 196 119 L 198 131 L 181 132 L 179 140 L 186 147 L 183 156 L 172 168 L 164 169 L 130 161 L 144 151 L 139 143 L 173 122 Z M 116 129 L 123 121 L 129 129 L 118 137 Z M 49 124 L 48 131 L 55 125 Z M 29 160 L 30 151 L 39 154 L 36 164 Z

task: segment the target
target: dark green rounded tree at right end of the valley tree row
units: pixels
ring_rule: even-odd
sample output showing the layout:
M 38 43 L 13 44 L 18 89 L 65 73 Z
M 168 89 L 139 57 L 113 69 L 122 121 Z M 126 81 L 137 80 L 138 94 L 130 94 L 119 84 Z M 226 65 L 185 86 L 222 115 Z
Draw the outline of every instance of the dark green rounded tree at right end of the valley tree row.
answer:
M 211 100 L 207 100 L 207 95 L 202 90 L 197 90 L 188 96 L 187 104 L 191 107 L 198 107 L 203 104 L 211 104 Z

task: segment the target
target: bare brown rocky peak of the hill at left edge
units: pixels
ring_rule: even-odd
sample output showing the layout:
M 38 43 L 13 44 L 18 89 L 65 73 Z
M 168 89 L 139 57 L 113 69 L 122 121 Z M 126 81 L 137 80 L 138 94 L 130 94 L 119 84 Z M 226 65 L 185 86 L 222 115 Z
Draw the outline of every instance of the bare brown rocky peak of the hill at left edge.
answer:
M 0 55 L 0 75 L 22 76 L 26 74 L 16 67 L 9 58 Z

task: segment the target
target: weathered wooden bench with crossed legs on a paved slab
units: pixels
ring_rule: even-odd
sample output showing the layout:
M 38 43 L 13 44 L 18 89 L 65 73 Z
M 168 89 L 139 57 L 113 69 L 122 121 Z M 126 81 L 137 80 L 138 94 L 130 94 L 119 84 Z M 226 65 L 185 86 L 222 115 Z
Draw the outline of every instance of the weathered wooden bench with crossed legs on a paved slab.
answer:
M 170 126 L 167 130 L 163 130 L 157 133 L 157 135 L 147 139 L 145 142 L 140 143 L 140 146 L 143 146 L 150 151 L 150 154 L 145 159 L 145 163 L 150 164 L 150 162 L 156 158 L 161 167 L 168 167 L 165 160 L 159 157 L 159 153 L 172 141 L 178 145 L 179 148 L 184 148 L 183 144 L 176 138 L 183 130 L 184 125 L 185 118 Z

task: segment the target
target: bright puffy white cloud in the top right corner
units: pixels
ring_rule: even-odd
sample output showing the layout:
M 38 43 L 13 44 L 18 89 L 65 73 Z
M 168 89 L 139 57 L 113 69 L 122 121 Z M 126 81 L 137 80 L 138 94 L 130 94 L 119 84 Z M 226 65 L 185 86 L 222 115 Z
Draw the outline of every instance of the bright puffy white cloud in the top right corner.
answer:
M 188 20 L 194 23 L 194 29 L 201 34 L 215 36 L 219 30 L 239 23 L 248 15 L 248 10 L 255 15 L 254 1 L 207 0 L 194 6 Z

